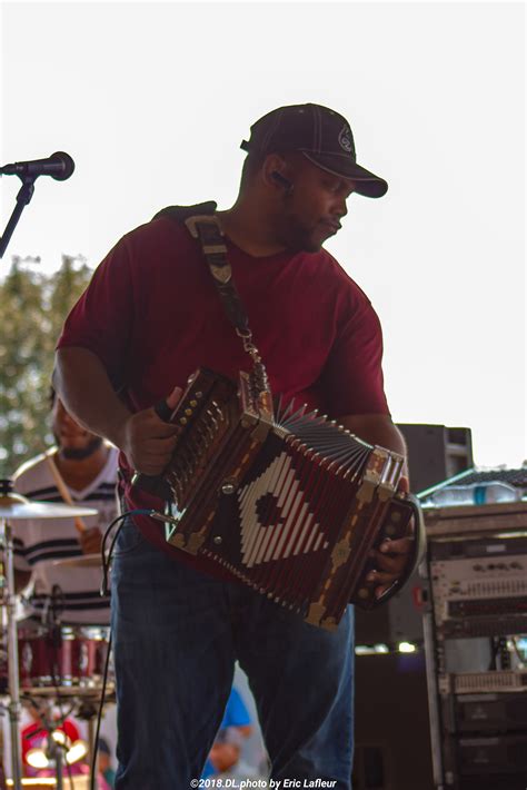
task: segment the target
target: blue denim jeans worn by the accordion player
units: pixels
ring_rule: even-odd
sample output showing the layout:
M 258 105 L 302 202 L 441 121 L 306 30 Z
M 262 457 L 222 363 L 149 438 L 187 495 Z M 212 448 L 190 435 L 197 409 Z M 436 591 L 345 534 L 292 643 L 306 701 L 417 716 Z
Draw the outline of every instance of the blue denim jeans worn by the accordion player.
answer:
M 337 631 L 175 562 L 130 519 L 112 569 L 117 790 L 189 790 L 220 725 L 238 660 L 272 779 L 335 780 L 352 759 L 352 608 Z M 302 782 L 304 783 L 304 782 Z

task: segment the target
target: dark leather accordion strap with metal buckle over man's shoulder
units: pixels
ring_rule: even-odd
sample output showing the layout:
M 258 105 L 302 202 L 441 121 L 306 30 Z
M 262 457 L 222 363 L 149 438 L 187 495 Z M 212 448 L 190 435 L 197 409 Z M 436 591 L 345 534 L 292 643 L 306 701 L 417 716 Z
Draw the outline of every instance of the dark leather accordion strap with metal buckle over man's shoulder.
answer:
M 243 349 L 252 362 L 259 365 L 261 358 L 252 343 L 249 318 L 232 279 L 232 269 L 227 258 L 227 247 L 220 221 L 216 216 L 216 206 L 213 200 L 197 206 L 168 206 L 158 211 L 153 219 L 168 216 L 179 224 L 185 224 L 192 238 L 199 240 L 223 310 L 241 338 Z

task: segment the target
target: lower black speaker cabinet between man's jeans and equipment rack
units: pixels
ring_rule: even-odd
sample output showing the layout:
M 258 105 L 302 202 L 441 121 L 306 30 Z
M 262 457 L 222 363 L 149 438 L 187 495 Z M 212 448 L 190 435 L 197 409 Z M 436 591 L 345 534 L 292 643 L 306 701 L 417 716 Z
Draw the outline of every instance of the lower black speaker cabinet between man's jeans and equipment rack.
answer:
M 356 656 L 354 790 L 434 790 L 425 654 Z

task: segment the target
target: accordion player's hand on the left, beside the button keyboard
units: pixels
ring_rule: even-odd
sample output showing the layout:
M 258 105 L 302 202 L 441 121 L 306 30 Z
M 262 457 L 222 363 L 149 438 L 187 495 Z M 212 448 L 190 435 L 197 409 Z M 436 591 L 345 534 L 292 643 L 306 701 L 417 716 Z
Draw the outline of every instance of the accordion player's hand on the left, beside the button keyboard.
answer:
M 181 387 L 175 387 L 167 397 L 167 406 L 176 408 L 181 394 Z M 119 447 L 136 472 L 157 475 L 171 458 L 178 431 L 176 425 L 163 422 L 152 406 L 128 417 L 121 428 Z

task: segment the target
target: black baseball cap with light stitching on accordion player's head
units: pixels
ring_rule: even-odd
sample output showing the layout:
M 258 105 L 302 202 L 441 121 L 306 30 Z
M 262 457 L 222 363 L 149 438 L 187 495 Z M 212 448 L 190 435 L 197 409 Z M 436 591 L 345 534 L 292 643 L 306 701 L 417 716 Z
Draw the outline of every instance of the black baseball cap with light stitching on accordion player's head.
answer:
M 357 165 L 354 136 L 344 116 L 321 105 L 290 105 L 262 116 L 250 128 L 246 151 L 261 155 L 301 151 L 317 167 L 336 176 L 351 178 L 356 191 L 366 197 L 382 197 L 388 190 L 384 178 Z

